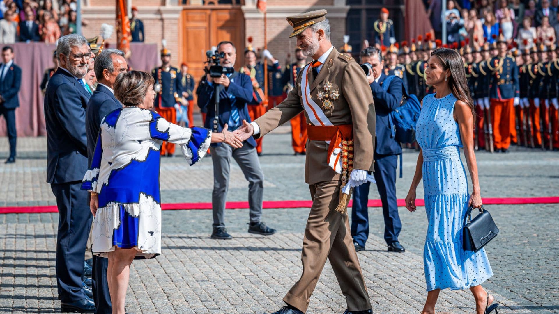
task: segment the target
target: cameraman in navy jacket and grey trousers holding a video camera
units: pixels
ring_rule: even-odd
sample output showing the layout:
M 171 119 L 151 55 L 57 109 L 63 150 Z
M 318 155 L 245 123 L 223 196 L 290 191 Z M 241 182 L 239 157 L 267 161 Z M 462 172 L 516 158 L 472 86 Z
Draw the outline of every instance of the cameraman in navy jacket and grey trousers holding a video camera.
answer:
M 236 48 L 233 42 L 222 41 L 217 50 L 224 53 L 220 59 L 222 66 L 233 68 L 236 59 Z M 214 86 L 217 84 L 220 102 L 218 107 L 219 125 L 217 132 L 221 132 L 227 124 L 229 130 L 241 126 L 241 121 L 250 121 L 247 103 L 253 98 L 253 87 L 250 77 L 244 73 L 235 72 L 230 75 L 222 74 L 219 78 L 207 75 L 206 81 L 200 87 L 198 107 L 207 110 L 204 127 L 214 130 L 215 117 Z M 233 149 L 229 145 L 212 144 L 210 146 L 211 159 L 214 163 L 214 191 L 212 192 L 212 210 L 214 213 L 213 239 L 231 239 L 225 229 L 225 198 L 229 188 L 229 168 L 231 157 L 239 164 L 249 182 L 249 229 L 248 232 L 271 235 L 276 230 L 267 227 L 262 221 L 262 198 L 264 193 L 264 174 L 260 169 L 260 161 L 256 153 L 256 141 L 249 137 L 243 142 L 243 147 Z

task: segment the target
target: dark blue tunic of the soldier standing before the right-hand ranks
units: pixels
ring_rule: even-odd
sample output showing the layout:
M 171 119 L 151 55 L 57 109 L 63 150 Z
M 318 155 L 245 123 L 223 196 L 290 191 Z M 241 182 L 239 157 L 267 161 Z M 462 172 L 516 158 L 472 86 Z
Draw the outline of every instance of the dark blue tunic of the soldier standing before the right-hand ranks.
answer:
M 489 61 L 491 81 L 489 87 L 489 98 L 507 100 L 520 97 L 518 85 L 518 66 L 510 56 L 500 59 L 498 56 Z

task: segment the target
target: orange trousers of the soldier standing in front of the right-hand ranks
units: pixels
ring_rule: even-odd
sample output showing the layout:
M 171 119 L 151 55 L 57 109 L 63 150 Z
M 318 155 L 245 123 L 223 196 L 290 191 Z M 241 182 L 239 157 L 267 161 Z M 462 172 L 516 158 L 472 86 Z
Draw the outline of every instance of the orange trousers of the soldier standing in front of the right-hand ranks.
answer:
M 491 122 L 493 124 L 493 146 L 495 150 L 510 146 L 510 125 L 514 125 L 514 99 L 500 101 L 490 99 Z

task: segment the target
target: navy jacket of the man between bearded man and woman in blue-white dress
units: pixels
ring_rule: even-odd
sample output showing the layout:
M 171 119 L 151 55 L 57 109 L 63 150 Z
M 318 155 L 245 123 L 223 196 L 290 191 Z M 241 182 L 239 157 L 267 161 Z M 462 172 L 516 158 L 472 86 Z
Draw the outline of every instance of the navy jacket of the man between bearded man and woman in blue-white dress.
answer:
M 87 164 L 91 165 L 101 121 L 111 111 L 122 108 L 122 104 L 105 86 L 98 84 L 86 108 Z

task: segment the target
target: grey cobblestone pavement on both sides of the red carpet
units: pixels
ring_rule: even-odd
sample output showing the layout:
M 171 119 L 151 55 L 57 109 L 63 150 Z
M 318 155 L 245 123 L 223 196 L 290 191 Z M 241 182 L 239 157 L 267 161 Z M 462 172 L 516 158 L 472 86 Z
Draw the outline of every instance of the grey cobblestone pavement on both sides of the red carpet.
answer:
M 284 129 L 285 130 L 285 129 Z M 0 166 L 0 206 L 55 204 L 45 183 L 44 138 L 18 139 L 15 165 Z M 0 139 L 0 158 L 7 140 Z M 417 154 L 406 150 L 404 178 L 397 196 L 408 190 Z M 514 148 L 509 154 L 477 154 L 482 197 L 557 196 L 559 154 Z M 304 158 L 292 156 L 290 137 L 264 138 L 260 158 L 265 200 L 309 199 Z M 246 201 L 247 182 L 231 169 L 230 201 Z M 189 167 L 181 158 L 162 160 L 162 201 L 210 202 L 211 159 Z M 371 189 L 370 197 L 378 198 Z M 418 198 L 423 197 L 422 187 Z M 484 287 L 503 305 L 500 313 L 559 312 L 559 206 L 557 204 L 487 206 L 499 225 L 487 247 L 495 276 Z M 299 278 L 302 232 L 307 208 L 264 210 L 263 220 L 278 234 L 261 237 L 247 231 L 248 210 L 226 212 L 230 241 L 209 239 L 211 211 L 164 211 L 163 254 L 134 261 L 127 312 L 262 313 L 275 311 Z M 375 313 L 419 313 L 426 292 L 422 211 L 400 208 L 400 241 L 408 250 L 389 254 L 382 240 L 379 208 L 371 208 L 371 236 L 359 260 Z M 52 313 L 56 300 L 54 246 L 58 214 L 0 215 L 0 312 Z M 473 313 L 468 291 L 443 291 L 438 313 Z M 345 302 L 326 263 L 308 313 L 342 313 Z

